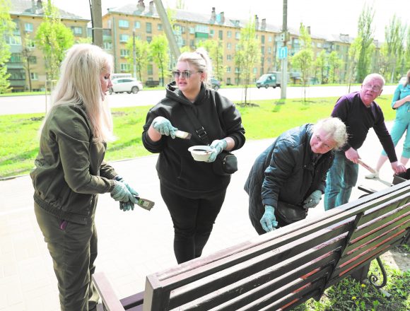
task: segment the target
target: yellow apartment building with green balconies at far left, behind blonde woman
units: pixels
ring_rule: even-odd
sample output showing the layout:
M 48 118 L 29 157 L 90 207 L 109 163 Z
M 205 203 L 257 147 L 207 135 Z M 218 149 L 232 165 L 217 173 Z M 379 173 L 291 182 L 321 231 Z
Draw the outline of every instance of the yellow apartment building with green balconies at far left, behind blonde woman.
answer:
M 40 49 L 35 47 L 35 32 L 42 23 L 45 0 L 13 0 L 10 16 L 16 28 L 13 36 L 6 37 L 11 47 L 11 59 L 7 63 L 9 81 L 13 92 L 44 90 L 46 86 L 45 61 Z M 90 20 L 59 10 L 61 22 L 71 28 L 74 38 L 86 38 Z M 28 56 L 26 57 L 26 55 Z

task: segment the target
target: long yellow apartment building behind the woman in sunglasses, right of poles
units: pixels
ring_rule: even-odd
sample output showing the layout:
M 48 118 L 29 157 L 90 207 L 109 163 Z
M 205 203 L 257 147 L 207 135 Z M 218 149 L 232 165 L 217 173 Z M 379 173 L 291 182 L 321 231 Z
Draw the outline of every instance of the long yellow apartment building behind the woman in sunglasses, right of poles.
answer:
M 225 69 L 223 83 L 238 84 L 239 71 L 235 66 L 235 52 L 239 47 L 240 29 L 249 20 L 230 18 L 225 12 L 216 12 L 216 8 L 210 8 L 209 13 L 194 13 L 184 10 L 174 11 L 174 33 L 177 44 L 181 47 L 189 47 L 194 50 L 201 40 L 221 40 L 223 42 L 223 66 Z M 253 16 L 252 16 L 253 18 Z M 266 18 L 259 19 L 254 16 L 257 38 L 261 45 L 261 61 L 254 70 L 256 77 L 268 72 L 280 69 L 278 50 L 283 46 L 281 41 L 281 21 Z M 156 11 L 153 1 L 146 6 L 144 0 L 138 4 L 127 4 L 117 8 L 111 8 L 102 16 L 102 26 L 105 28 L 104 46 L 115 57 L 116 72 L 130 72 L 132 68 L 127 61 L 129 51 L 127 41 L 135 36 L 136 40 L 151 42 L 156 35 L 163 34 L 163 25 Z M 310 31 L 310 29 L 308 28 Z M 339 57 L 345 62 L 348 57 L 348 46 L 351 38 L 346 35 L 312 36 L 312 47 L 315 56 L 322 49 L 327 52 L 336 50 Z M 300 50 L 299 30 L 290 29 L 288 35 L 288 54 L 292 56 Z M 346 69 L 341 69 L 341 77 Z M 148 64 L 143 71 L 143 80 L 159 80 L 158 69 L 155 64 Z M 295 73 L 297 75 L 297 73 Z M 165 81 L 168 82 L 168 81 Z

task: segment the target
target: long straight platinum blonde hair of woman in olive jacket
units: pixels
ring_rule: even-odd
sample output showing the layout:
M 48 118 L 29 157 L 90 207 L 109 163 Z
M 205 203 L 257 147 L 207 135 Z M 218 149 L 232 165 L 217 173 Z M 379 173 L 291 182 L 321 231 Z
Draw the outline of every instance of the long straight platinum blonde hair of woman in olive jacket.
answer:
M 53 107 L 72 103 L 84 105 L 95 141 L 114 139 L 112 116 L 109 107 L 102 102 L 100 81 L 102 72 L 112 69 L 112 63 L 112 56 L 96 45 L 73 45 L 61 63 L 59 81 L 53 94 Z

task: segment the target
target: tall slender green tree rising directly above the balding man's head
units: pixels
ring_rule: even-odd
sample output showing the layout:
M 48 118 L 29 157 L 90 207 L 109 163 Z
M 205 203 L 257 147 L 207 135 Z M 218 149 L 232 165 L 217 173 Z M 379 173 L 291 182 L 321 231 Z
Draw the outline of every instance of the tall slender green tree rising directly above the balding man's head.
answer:
M 373 54 L 374 30 L 372 28 L 375 12 L 370 6 L 363 6 L 358 19 L 358 37 L 361 38 L 361 49 L 358 57 L 356 81 L 361 82 L 369 73 L 370 59 Z

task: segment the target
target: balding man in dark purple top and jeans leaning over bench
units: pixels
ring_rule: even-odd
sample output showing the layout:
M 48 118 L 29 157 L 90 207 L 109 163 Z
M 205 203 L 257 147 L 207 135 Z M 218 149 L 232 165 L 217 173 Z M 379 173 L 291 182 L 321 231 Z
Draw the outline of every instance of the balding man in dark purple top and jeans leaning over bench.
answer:
M 345 204 L 351 195 L 351 189 L 358 179 L 358 148 L 363 145 L 370 127 L 382 143 L 389 157 L 395 174 L 406 168 L 397 161 L 392 137 L 387 131 L 382 109 L 374 101 L 383 90 L 385 79 L 380 74 L 365 77 L 361 90 L 344 95 L 336 102 L 332 117 L 339 117 L 346 124 L 348 141 L 341 150 L 336 151 L 334 162 L 327 173 L 324 192 L 324 209 L 327 211 Z

